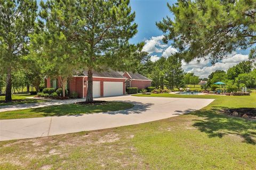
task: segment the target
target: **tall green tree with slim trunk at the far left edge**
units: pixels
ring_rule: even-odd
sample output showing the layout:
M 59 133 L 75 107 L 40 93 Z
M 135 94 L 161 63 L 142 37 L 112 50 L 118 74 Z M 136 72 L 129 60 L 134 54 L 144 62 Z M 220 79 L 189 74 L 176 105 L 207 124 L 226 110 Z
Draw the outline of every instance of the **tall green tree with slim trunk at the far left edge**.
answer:
M 26 54 L 28 35 L 34 31 L 37 5 L 35 0 L 0 1 L 0 66 L 6 74 L 5 101 L 12 100 L 12 72 L 20 67 Z

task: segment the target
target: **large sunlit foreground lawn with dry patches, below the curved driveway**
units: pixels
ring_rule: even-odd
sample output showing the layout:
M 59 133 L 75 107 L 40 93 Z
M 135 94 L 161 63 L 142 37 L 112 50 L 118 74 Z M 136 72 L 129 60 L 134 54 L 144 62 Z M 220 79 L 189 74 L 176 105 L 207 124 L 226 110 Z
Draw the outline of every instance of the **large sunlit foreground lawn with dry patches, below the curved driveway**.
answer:
M 256 121 L 219 112 L 255 107 L 255 92 L 176 96 L 215 100 L 199 111 L 155 122 L 3 141 L 0 169 L 256 169 Z

